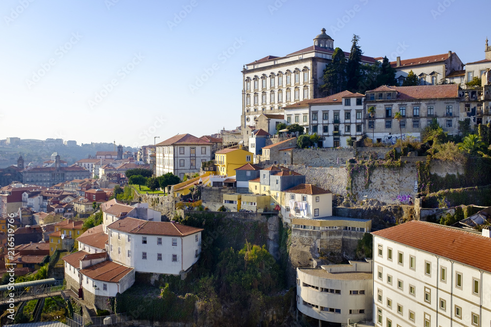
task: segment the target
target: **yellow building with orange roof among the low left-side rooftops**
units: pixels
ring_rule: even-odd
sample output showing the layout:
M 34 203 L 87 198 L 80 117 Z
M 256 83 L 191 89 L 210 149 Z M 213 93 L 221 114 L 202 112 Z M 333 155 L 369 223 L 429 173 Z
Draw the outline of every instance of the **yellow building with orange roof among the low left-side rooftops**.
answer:
M 82 227 L 82 221 L 66 219 L 55 224 L 55 231 L 50 236 L 50 255 L 56 250 L 70 251 L 75 239 L 82 235 L 87 228 Z

